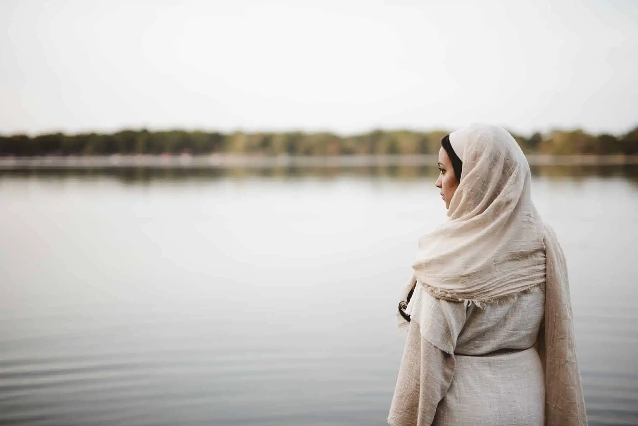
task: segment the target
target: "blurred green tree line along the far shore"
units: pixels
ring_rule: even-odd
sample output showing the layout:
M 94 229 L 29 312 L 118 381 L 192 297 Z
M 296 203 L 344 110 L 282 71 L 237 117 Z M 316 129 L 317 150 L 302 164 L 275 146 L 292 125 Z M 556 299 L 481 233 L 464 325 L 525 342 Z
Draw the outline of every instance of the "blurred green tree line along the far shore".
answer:
M 242 155 L 436 154 L 447 132 L 375 130 L 353 136 L 334 133 L 218 133 L 123 130 L 112 134 L 51 133 L 0 136 L 0 156 L 135 155 L 232 153 Z M 513 133 L 514 134 L 514 133 Z M 638 154 L 638 126 L 622 135 L 591 135 L 582 130 L 514 134 L 526 153 Z

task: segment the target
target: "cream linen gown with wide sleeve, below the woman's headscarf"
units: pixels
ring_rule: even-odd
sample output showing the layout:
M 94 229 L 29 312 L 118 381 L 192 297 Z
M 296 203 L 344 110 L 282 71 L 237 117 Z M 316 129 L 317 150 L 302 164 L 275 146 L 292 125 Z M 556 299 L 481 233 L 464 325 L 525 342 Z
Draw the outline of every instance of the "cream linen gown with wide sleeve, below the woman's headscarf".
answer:
M 390 425 L 543 425 L 535 343 L 544 308 L 544 285 L 477 307 L 435 298 L 417 282 Z

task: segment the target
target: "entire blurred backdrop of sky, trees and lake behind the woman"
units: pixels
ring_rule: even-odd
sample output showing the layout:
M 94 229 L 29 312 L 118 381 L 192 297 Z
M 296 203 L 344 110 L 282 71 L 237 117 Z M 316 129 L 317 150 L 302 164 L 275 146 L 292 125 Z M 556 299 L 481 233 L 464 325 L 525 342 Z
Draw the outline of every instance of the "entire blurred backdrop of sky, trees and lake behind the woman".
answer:
M 0 424 L 385 425 L 440 139 L 505 126 L 638 424 L 638 3 L 0 3 Z

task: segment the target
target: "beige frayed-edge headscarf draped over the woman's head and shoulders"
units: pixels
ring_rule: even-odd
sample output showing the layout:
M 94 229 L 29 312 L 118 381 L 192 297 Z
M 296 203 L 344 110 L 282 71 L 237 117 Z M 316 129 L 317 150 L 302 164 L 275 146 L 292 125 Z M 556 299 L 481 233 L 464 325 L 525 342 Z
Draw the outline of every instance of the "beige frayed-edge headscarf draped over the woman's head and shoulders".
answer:
M 450 134 L 463 161 L 449 220 L 422 236 L 404 289 L 482 307 L 545 285 L 537 347 L 545 368 L 546 425 L 586 425 L 567 264 L 531 201 L 530 165 L 507 130 L 472 124 Z M 460 152 L 459 152 L 460 151 Z M 399 326 L 407 321 L 397 316 Z

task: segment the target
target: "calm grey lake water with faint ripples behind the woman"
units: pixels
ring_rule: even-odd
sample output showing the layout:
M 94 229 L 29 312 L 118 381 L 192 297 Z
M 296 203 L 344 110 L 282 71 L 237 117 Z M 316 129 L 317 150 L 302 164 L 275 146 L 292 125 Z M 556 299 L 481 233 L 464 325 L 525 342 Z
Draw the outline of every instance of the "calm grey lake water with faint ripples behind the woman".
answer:
M 638 183 L 577 175 L 533 197 L 590 424 L 638 424 Z M 430 171 L 135 176 L 0 175 L 1 425 L 385 425 Z

